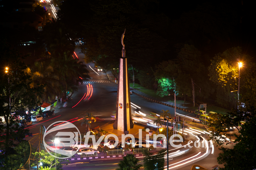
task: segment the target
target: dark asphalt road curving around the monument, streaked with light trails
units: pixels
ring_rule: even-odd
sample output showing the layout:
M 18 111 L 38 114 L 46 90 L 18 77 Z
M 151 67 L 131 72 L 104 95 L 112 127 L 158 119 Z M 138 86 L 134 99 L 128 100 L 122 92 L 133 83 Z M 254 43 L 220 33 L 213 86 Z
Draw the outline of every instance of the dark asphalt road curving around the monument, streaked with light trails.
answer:
M 76 49 L 75 52 L 79 56 L 80 61 L 82 61 L 83 54 L 79 54 L 80 52 L 79 49 Z M 35 126 L 29 127 L 30 132 L 32 134 L 39 133 L 39 127 L 41 125 L 44 125 L 46 128 L 48 128 L 50 124 L 57 121 L 63 121 L 63 120 L 65 121 L 69 120 L 69 122 L 74 121 L 72 123 L 79 129 L 80 133 L 83 133 L 86 130 L 86 126 L 81 126 L 81 123 L 83 122 L 83 119 L 81 118 L 84 117 L 86 112 L 92 112 L 97 118 L 101 119 L 101 121 L 97 121 L 96 123 L 91 124 L 91 129 L 97 126 L 101 126 L 102 124 L 114 119 L 111 115 L 113 115 L 113 113 L 116 110 L 117 84 L 113 82 L 108 82 L 109 81 L 108 76 L 104 71 L 97 72 L 99 75 L 96 72 L 94 72 L 93 63 L 89 63 L 86 65 L 88 70 L 90 71 L 89 75 L 91 79 L 88 81 L 85 80 L 84 83 L 78 87 L 78 91 L 74 92 L 74 95 L 72 96 L 73 101 L 68 102 L 67 107 L 56 110 L 54 116 L 50 116 L 49 118 L 44 118 L 43 121 L 40 121 L 38 123 L 33 122 L 33 125 Z M 91 68 L 93 69 L 91 69 L 89 66 L 91 66 Z M 89 86 L 89 82 L 91 82 L 90 84 L 93 87 L 93 92 L 90 99 L 88 96 L 85 100 L 83 100 L 84 96 L 86 96 L 86 94 L 88 93 L 87 86 Z M 144 113 L 147 113 L 147 112 L 149 113 L 150 111 L 159 113 L 163 109 L 163 110 L 169 110 L 171 115 L 174 116 L 174 108 L 170 108 L 158 103 L 150 102 L 149 100 L 140 98 L 139 96 L 134 94 L 131 95 L 131 102 L 140 106 L 141 107 L 140 111 Z M 132 112 L 134 112 L 134 110 L 132 110 Z M 188 112 L 184 112 L 181 110 L 176 110 L 176 112 L 184 115 L 188 114 Z M 65 131 L 65 129 L 61 131 Z M 55 132 L 51 133 L 45 138 L 45 141 L 46 142 L 50 141 L 50 138 L 53 139 L 55 135 L 56 135 Z M 26 140 L 29 140 L 29 139 L 31 139 L 31 137 L 26 137 Z M 198 150 L 204 150 L 204 149 L 193 148 L 193 150 L 190 150 L 184 155 L 177 156 L 172 160 L 170 160 L 170 164 L 177 159 L 182 159 L 182 157 L 186 157 L 192 154 L 193 152 L 198 152 Z M 208 161 L 211 161 L 211 163 L 213 163 L 214 160 L 215 162 L 217 162 L 216 157 L 217 157 L 216 154 L 214 154 L 213 156 L 208 156 L 207 158 L 200 160 L 200 163 L 206 164 Z M 68 166 L 64 166 L 64 169 L 71 169 L 71 168 L 72 169 L 101 169 L 101 170 L 115 169 L 117 167 L 117 163 L 121 159 L 112 158 L 111 161 L 110 159 L 105 158 L 105 159 L 97 159 L 97 160 L 86 159 L 82 161 L 81 160 L 72 161 L 71 164 L 69 164 Z M 142 159 L 140 158 L 140 160 Z M 178 168 L 179 167 L 177 167 L 176 169 Z M 181 169 L 186 170 L 186 169 L 191 169 L 191 167 L 187 166 L 187 167 L 182 167 Z

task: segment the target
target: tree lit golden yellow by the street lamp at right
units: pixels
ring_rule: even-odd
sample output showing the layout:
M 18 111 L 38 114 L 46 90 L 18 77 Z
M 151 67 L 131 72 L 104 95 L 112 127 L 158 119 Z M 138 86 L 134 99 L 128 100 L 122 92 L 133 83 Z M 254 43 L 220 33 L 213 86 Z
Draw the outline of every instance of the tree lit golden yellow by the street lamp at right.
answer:
M 239 58 L 242 61 L 248 57 L 242 54 L 241 47 L 233 47 L 222 54 L 215 55 L 214 59 L 211 60 L 211 65 L 208 67 L 210 80 L 217 85 L 216 102 L 226 108 L 236 108 L 232 106 L 234 106 L 237 99 L 230 91 L 238 89 L 239 68 L 237 59 Z

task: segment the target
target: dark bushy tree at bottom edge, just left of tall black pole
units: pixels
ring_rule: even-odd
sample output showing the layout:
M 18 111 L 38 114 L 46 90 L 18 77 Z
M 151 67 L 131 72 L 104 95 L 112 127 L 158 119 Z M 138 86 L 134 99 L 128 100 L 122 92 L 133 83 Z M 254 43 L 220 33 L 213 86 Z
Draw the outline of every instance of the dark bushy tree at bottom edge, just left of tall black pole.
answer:
M 165 167 L 165 153 L 166 150 L 162 149 L 157 154 L 153 155 L 149 151 L 144 152 L 144 169 L 145 170 L 163 170 Z

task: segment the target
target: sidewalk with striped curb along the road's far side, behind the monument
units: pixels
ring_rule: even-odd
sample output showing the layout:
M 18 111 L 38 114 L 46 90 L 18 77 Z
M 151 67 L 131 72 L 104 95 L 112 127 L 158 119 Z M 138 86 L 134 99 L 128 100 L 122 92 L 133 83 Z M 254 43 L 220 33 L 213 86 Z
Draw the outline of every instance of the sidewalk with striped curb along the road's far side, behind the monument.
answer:
M 112 74 L 111 71 L 105 70 L 105 72 L 106 72 L 106 74 L 107 74 L 107 76 L 108 76 L 110 81 L 112 81 L 112 82 L 114 82 L 116 84 L 118 83 L 118 81 L 115 82 L 115 77 L 114 77 L 114 75 Z M 163 104 L 165 106 L 169 106 L 169 107 L 173 107 L 174 108 L 174 103 L 172 103 L 172 102 L 161 101 L 160 98 L 154 98 L 154 97 L 152 97 L 150 95 L 147 95 L 147 94 L 145 94 L 145 93 L 143 93 L 143 92 L 141 92 L 139 90 L 133 89 L 132 87 L 130 87 L 130 89 L 132 90 L 133 94 L 138 95 L 138 96 L 140 96 L 140 97 L 142 97 L 144 99 L 147 99 L 147 100 L 150 100 L 152 102 Z M 182 110 L 182 111 L 186 111 L 186 112 L 189 112 L 189 113 L 193 112 L 192 110 L 189 110 L 188 107 L 182 106 L 181 104 L 176 104 L 176 109 Z

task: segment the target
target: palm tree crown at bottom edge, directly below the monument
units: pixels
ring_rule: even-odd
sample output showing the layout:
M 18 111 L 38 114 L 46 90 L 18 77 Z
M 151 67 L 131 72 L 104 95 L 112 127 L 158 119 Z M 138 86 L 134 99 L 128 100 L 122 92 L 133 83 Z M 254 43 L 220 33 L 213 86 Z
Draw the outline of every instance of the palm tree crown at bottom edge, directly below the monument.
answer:
M 118 163 L 116 170 L 139 170 L 142 165 L 138 165 L 139 159 L 133 154 L 127 154 L 122 161 Z

